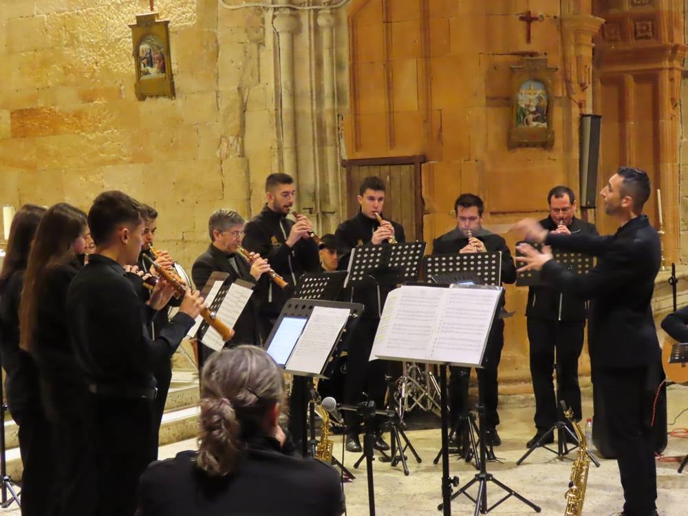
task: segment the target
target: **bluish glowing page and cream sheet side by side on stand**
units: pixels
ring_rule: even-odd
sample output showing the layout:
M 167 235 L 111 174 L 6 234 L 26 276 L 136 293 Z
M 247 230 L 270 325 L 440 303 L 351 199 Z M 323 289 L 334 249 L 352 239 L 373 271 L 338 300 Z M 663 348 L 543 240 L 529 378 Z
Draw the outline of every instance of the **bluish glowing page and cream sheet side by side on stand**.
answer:
M 288 373 L 322 376 L 350 313 L 348 308 L 315 306 L 307 320 L 283 317 L 267 352 Z

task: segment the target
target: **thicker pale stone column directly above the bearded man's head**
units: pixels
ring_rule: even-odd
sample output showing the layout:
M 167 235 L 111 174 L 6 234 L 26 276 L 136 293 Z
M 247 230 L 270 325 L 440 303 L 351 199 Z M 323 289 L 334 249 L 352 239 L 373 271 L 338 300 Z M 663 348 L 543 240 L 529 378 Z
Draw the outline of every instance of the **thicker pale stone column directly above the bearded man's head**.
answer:
M 280 0 L 279 3 L 286 3 Z M 279 9 L 272 24 L 277 30 L 279 47 L 279 95 L 282 126 L 282 172 L 294 178 L 298 188 L 296 109 L 294 108 L 294 32 L 299 19 L 288 9 Z

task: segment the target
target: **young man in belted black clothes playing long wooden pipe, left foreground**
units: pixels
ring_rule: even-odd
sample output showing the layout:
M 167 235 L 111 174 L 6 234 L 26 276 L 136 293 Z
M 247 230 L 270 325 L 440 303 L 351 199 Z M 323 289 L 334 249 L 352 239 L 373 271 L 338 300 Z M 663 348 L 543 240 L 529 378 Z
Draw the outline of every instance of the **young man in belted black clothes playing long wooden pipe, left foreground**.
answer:
M 142 206 L 129 195 L 108 191 L 88 214 L 96 252 L 76 275 L 67 294 L 67 323 L 74 353 L 91 394 L 85 408 L 92 431 L 93 488 L 97 506 L 79 514 L 128 516 L 136 510 L 138 478 L 155 459 L 158 422 L 155 366 L 177 349 L 203 307 L 186 290 L 180 310 L 151 340 L 147 324 L 172 296 L 160 279 L 143 304 L 123 266 L 136 265 L 144 231 Z

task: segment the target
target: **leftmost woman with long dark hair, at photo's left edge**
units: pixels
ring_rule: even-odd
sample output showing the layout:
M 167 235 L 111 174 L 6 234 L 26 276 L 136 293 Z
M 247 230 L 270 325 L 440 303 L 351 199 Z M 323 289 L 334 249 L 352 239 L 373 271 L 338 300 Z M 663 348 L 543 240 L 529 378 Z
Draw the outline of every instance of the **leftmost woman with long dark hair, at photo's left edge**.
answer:
M 24 204 L 12 219 L 7 252 L 0 270 L 0 351 L 12 418 L 19 426 L 23 463 L 21 505 L 24 515 L 45 515 L 43 486 L 50 482 L 50 443 L 43 435 L 45 416 L 39 396 L 38 373 L 29 354 L 19 348 L 19 303 L 24 272 L 36 228 L 45 208 Z

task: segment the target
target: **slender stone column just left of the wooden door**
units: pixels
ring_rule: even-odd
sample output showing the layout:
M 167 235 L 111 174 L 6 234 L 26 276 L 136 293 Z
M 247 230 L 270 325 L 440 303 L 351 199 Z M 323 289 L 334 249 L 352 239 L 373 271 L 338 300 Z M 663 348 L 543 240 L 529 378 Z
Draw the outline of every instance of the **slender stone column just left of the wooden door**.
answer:
M 334 14 L 321 10 L 317 23 L 323 32 L 323 107 L 325 122 L 325 182 L 327 203 L 321 204 L 323 228 L 333 232 L 341 213 L 339 196 L 339 162 L 337 155 L 337 120 L 334 74 Z M 334 212 L 334 213 L 331 213 Z

